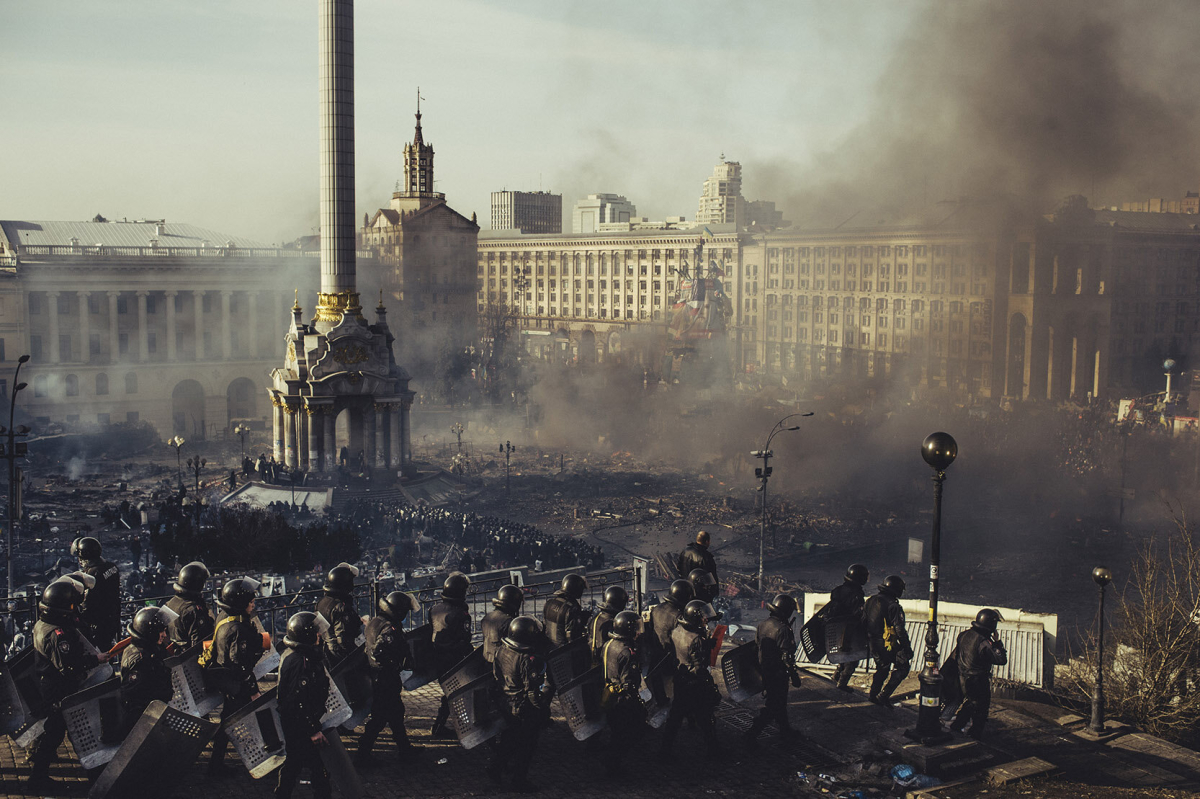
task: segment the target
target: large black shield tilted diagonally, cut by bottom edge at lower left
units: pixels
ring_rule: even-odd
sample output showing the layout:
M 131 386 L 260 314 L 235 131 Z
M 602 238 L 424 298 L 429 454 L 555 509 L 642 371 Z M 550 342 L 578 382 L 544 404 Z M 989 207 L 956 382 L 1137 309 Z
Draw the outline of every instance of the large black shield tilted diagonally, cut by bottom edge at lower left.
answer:
M 179 783 L 220 725 L 151 702 L 116 755 L 104 767 L 88 799 L 142 799 L 166 795 Z

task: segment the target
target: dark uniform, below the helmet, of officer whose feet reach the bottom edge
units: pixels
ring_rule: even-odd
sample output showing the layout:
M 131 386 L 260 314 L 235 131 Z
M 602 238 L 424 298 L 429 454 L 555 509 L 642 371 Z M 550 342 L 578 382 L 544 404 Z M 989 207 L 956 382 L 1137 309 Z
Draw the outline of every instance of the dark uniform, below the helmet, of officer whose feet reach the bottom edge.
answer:
M 329 697 L 329 674 L 320 653 L 305 649 L 288 650 L 280 662 L 278 707 L 280 726 L 287 758 L 280 767 L 280 779 L 275 786 L 276 799 L 289 799 L 300 770 L 305 767 L 312 774 L 312 794 L 317 799 L 329 799 L 332 789 L 329 771 L 320 759 L 320 752 L 312 737 L 320 732 L 320 717 L 325 715 Z

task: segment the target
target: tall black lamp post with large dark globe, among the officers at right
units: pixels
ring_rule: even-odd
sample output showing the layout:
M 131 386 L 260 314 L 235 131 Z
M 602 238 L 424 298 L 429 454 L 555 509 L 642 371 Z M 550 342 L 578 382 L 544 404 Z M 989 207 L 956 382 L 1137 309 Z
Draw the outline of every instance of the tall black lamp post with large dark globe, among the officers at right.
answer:
M 959 455 L 959 445 L 949 433 L 932 433 L 920 444 L 920 456 L 934 469 L 934 535 L 929 560 L 929 623 L 925 626 L 925 667 L 920 669 L 920 708 L 917 728 L 910 737 L 923 744 L 944 740 L 942 729 L 942 673 L 937 654 L 937 569 L 942 555 L 942 483 L 946 470 Z

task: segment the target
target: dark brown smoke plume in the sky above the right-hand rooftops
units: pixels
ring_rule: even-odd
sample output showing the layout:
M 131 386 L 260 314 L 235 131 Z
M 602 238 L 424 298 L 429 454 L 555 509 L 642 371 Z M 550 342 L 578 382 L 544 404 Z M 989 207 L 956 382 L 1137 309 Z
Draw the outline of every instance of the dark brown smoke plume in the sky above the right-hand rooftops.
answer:
M 805 167 L 748 164 L 799 224 L 1008 194 L 1048 211 L 1196 187 L 1194 4 L 932 2 L 874 110 Z

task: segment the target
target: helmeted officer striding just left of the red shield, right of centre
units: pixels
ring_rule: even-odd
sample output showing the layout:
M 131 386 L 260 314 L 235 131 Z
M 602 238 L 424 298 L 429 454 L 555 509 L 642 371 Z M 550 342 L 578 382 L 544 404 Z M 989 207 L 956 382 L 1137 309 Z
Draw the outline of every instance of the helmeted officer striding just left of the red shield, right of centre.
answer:
M 720 702 L 716 684 L 709 671 L 713 639 L 708 636 L 708 603 L 700 600 L 688 602 L 679 623 L 671 631 L 676 660 L 679 666 L 674 675 L 674 696 L 671 711 L 662 727 L 662 757 L 672 757 L 672 746 L 684 717 L 690 717 L 704 735 L 709 755 L 715 755 L 716 720 L 713 711 Z

